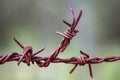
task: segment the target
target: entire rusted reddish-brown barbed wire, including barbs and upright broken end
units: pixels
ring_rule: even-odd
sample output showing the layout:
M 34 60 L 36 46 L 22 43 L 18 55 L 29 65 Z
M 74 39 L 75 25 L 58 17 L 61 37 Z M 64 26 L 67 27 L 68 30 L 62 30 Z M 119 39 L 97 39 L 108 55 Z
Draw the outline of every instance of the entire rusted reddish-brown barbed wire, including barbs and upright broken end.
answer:
M 78 65 L 84 66 L 85 64 L 88 64 L 90 76 L 93 77 L 91 64 L 98 64 L 102 62 L 113 62 L 120 60 L 120 56 L 111 56 L 105 58 L 99 58 L 99 57 L 90 58 L 89 55 L 83 51 L 80 51 L 80 53 L 83 55 L 80 57 L 71 57 L 67 59 L 58 58 L 57 57 L 58 54 L 60 52 L 63 52 L 67 48 L 67 46 L 70 43 L 70 40 L 79 32 L 75 28 L 80 20 L 82 11 L 79 12 L 77 18 L 75 18 L 75 14 L 72 7 L 70 7 L 70 12 L 72 17 L 72 24 L 63 20 L 63 22 L 67 26 L 69 26 L 69 28 L 64 33 L 58 31 L 56 32 L 57 34 L 61 35 L 63 39 L 49 57 L 43 57 L 37 55 L 38 53 L 42 52 L 45 48 L 41 48 L 37 52 L 33 52 L 31 46 L 23 46 L 15 37 L 13 37 L 14 41 L 23 49 L 23 52 L 22 54 L 19 54 L 18 52 L 12 52 L 10 54 L 0 55 L 0 64 L 4 64 L 10 61 L 18 61 L 17 63 L 18 65 L 20 65 L 21 62 L 24 62 L 28 66 L 30 66 L 30 63 L 32 62 L 32 64 L 36 63 L 39 67 L 48 67 L 50 63 L 73 64 L 74 67 L 71 69 L 70 73 L 72 73 Z

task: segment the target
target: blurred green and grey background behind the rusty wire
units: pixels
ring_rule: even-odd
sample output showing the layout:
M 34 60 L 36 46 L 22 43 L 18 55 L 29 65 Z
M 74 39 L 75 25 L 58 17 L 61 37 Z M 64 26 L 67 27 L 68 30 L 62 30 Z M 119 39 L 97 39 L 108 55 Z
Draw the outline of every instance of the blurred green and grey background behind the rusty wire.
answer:
M 59 57 L 81 56 L 80 50 L 91 57 L 120 55 L 120 0 L 0 0 L 0 54 L 22 52 L 12 40 L 16 37 L 22 44 L 31 45 L 33 50 L 46 47 L 41 56 L 49 56 L 58 46 L 66 25 L 71 22 L 69 6 L 76 16 L 83 15 L 77 26 L 79 33 Z M 17 62 L 0 65 L 0 80 L 119 80 L 120 63 L 92 65 L 91 79 L 87 65 L 77 67 L 69 74 L 73 65 L 50 64 L 47 68 L 27 66 Z

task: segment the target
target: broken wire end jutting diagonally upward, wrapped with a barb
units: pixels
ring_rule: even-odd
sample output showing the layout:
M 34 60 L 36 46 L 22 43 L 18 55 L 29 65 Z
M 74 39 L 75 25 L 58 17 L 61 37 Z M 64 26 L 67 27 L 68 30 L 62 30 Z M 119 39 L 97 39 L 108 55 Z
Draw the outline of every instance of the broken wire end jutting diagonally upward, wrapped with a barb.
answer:
M 56 50 L 53 51 L 50 58 L 48 58 L 48 60 L 46 62 L 44 62 L 41 66 L 47 67 L 50 64 L 50 62 L 58 56 L 58 54 L 60 52 L 63 52 L 67 48 L 67 46 L 70 43 L 70 40 L 78 33 L 78 30 L 76 30 L 75 27 L 77 26 L 78 21 L 80 20 L 80 17 L 82 16 L 82 11 L 79 13 L 77 19 L 75 18 L 72 7 L 70 7 L 70 13 L 71 13 L 71 15 L 72 15 L 71 17 L 73 19 L 72 24 L 63 20 L 63 22 L 67 26 L 69 26 L 69 28 L 64 33 L 61 33 L 58 31 L 56 32 L 57 34 L 61 35 L 63 37 L 63 39 L 61 40 L 61 42 L 60 42 L 59 46 L 56 48 Z

